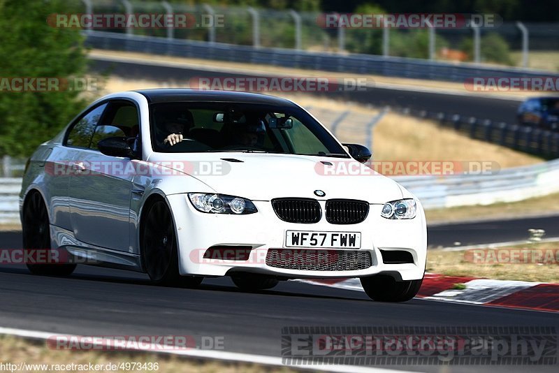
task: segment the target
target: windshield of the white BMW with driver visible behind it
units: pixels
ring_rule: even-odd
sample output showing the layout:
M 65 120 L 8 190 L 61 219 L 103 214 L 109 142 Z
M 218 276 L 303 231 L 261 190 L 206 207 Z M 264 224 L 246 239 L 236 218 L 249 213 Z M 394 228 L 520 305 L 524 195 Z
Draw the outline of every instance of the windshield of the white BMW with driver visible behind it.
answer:
M 300 108 L 247 103 L 157 103 L 150 106 L 156 152 L 266 152 L 349 158 Z M 176 140 L 169 140 L 173 136 Z

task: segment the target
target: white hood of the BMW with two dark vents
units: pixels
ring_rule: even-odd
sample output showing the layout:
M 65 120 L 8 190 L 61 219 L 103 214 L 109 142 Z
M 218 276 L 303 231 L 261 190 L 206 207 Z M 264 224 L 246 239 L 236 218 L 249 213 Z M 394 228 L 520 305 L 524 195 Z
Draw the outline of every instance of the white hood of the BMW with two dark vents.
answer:
M 402 198 L 395 181 L 354 159 L 219 152 L 154 153 L 148 161 L 164 162 L 167 167 L 196 177 L 217 193 L 251 200 L 352 198 L 380 204 Z M 317 190 L 326 196 L 317 197 Z

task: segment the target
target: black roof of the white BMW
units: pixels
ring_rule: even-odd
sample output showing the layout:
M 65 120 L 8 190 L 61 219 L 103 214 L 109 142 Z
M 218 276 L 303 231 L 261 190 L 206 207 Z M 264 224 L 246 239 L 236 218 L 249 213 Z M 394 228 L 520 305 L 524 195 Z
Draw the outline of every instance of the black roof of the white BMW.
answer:
M 280 97 L 268 96 L 266 94 L 255 94 L 236 91 L 215 91 L 206 89 L 187 88 L 159 88 L 140 89 L 134 92 L 143 94 L 149 103 L 166 102 L 238 102 L 238 103 L 261 103 L 268 105 L 296 106 L 289 100 Z

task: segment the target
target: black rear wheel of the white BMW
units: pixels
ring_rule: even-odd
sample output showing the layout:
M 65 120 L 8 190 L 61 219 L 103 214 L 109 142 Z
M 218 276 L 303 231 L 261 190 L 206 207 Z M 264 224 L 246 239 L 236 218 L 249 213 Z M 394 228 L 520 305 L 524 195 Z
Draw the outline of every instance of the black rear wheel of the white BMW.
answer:
M 38 191 L 32 191 L 23 205 L 22 235 L 24 251 L 51 251 L 47 207 Z M 31 257 L 31 255 L 29 256 Z M 43 255 L 43 257 L 45 256 Z M 56 258 L 51 255 L 48 257 Z M 75 264 L 26 263 L 26 265 L 34 275 L 69 276 L 75 270 Z

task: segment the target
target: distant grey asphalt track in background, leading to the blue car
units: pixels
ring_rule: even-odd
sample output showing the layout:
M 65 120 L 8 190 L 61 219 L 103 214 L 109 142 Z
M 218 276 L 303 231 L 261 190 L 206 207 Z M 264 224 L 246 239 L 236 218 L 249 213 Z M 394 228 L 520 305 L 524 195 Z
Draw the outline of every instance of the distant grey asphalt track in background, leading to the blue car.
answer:
M 224 73 L 201 71 L 194 68 L 171 66 L 152 66 L 149 62 L 112 62 L 92 58 L 90 70 L 96 73 L 111 73 L 125 79 L 175 81 L 183 85 L 191 78 L 235 78 L 246 77 L 242 73 Z M 326 75 L 328 75 L 326 73 Z M 319 94 L 308 92 L 309 94 Z M 428 112 L 446 112 L 465 117 L 491 119 L 497 122 L 516 122 L 518 101 L 503 100 L 479 96 L 453 96 L 444 93 L 414 92 L 400 89 L 372 88 L 365 92 L 326 92 L 321 95 L 331 98 L 343 98 L 358 103 L 375 103 L 375 105 L 393 105 L 413 110 Z

